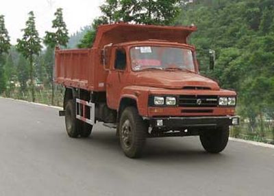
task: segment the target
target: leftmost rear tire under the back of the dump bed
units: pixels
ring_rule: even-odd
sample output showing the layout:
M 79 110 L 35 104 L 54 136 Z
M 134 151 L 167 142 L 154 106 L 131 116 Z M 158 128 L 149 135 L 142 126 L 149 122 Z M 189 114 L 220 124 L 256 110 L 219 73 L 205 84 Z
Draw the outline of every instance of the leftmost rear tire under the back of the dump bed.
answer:
M 66 102 L 64 119 L 66 123 L 66 132 L 68 133 L 69 137 L 78 137 L 80 122 L 76 119 L 75 102 L 73 100 L 68 100 Z

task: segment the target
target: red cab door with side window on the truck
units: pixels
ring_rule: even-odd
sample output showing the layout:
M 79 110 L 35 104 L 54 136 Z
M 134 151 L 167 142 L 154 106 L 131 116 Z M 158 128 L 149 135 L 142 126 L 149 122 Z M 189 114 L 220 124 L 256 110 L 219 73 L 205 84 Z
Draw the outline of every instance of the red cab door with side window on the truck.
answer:
M 107 103 L 111 109 L 118 109 L 121 90 L 127 79 L 127 56 L 124 48 L 116 48 L 112 52 L 114 58 L 110 65 L 110 74 L 107 79 Z

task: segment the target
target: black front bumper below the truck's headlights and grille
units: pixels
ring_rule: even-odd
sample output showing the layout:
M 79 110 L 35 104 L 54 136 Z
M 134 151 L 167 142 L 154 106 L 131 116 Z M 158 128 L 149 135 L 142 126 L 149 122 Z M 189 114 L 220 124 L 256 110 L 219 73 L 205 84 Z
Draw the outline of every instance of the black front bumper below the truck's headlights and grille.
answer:
M 204 128 L 240 124 L 239 116 L 210 117 L 153 117 L 149 119 L 153 128 Z

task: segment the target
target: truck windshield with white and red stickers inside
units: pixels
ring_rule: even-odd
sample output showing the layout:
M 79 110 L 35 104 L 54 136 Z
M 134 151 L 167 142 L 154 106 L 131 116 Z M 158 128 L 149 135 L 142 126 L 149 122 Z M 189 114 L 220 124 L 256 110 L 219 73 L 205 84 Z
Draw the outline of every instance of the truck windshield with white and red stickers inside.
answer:
M 187 48 L 136 46 L 130 49 L 132 69 L 195 71 L 192 51 Z

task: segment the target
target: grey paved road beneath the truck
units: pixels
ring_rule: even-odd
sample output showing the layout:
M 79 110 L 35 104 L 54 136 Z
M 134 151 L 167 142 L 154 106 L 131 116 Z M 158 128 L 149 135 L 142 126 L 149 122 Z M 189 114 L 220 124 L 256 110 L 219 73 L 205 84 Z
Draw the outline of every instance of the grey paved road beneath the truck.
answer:
M 129 159 L 113 130 L 66 136 L 58 110 L 0 98 L 0 195 L 274 195 L 274 149 L 197 137 L 149 139 Z

